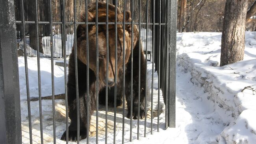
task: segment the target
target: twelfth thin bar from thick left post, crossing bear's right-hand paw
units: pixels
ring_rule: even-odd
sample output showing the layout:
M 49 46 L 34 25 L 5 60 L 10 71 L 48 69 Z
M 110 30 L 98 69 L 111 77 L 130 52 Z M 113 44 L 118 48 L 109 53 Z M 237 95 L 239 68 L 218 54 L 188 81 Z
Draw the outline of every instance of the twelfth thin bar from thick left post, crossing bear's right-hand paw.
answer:
M 138 115 L 137 115 L 137 140 L 139 140 L 139 119 L 141 103 L 141 1 L 139 0 L 139 83 L 138 83 Z

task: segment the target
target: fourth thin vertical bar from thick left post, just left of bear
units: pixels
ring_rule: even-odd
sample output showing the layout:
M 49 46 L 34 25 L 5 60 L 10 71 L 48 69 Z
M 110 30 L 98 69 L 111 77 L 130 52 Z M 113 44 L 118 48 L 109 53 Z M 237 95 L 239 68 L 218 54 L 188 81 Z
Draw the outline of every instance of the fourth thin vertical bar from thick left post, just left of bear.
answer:
M 66 104 L 66 144 L 69 143 L 69 109 L 67 96 L 67 47 L 66 47 L 66 20 L 65 20 L 65 0 L 62 0 L 62 49 L 64 57 L 64 80 L 65 80 L 65 104 Z

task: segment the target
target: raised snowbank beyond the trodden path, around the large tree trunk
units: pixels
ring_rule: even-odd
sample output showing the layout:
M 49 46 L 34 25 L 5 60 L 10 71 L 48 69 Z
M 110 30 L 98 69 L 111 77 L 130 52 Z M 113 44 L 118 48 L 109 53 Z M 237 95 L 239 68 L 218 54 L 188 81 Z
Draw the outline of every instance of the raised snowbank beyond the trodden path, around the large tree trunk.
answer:
M 226 128 L 220 144 L 249 143 L 256 140 L 256 96 L 246 86 L 256 88 L 256 32 L 246 32 L 244 61 L 219 67 L 221 33 L 177 34 L 177 64 L 191 73 L 191 82 L 202 86 L 207 99 Z M 255 94 L 255 93 L 254 93 Z

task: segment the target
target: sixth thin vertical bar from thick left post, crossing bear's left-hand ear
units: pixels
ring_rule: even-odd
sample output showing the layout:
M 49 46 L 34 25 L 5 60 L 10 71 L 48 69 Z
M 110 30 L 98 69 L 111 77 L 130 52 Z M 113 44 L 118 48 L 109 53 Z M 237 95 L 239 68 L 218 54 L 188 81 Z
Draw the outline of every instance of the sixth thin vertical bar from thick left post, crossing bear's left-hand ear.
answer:
M 88 1 L 85 0 L 85 24 L 86 24 L 86 61 L 87 61 L 87 67 L 86 67 L 86 143 L 89 144 L 89 128 L 90 128 L 90 122 L 89 122 L 89 34 L 88 34 Z

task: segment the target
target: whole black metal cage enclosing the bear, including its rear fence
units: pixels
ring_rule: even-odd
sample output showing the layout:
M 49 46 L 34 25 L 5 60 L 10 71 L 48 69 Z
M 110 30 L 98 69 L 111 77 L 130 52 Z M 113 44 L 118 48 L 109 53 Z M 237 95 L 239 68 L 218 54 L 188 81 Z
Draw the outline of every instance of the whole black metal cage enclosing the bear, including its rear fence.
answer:
M 28 57 L 37 57 L 37 76 L 38 76 L 38 97 L 37 101 L 39 104 L 39 122 L 40 122 L 40 135 L 38 135 L 40 142 L 44 142 L 43 134 L 43 108 L 42 101 L 43 96 L 41 95 L 41 69 L 40 69 L 40 58 L 48 58 L 51 61 L 51 84 L 52 89 L 50 99 L 52 99 L 52 142 L 56 142 L 56 106 L 55 100 L 58 99 L 58 95 L 55 95 L 54 86 L 54 60 L 63 59 L 64 65 L 64 82 L 65 82 L 65 94 L 61 99 L 65 99 L 65 130 L 67 130 L 66 137 L 69 131 L 69 118 L 68 118 L 68 96 L 67 96 L 67 56 L 71 52 L 72 45 L 74 45 L 74 63 L 75 63 L 75 87 L 76 87 L 76 119 L 77 121 L 77 137 L 80 137 L 80 102 L 78 94 L 78 59 L 77 59 L 77 27 L 78 25 L 86 25 L 86 39 L 87 39 L 87 61 L 89 61 L 89 36 L 88 27 L 89 25 L 96 26 L 96 136 L 95 141 L 98 143 L 98 119 L 99 119 L 99 49 L 98 49 L 98 27 L 100 25 L 106 25 L 106 49 L 107 49 L 107 59 L 109 60 L 109 25 L 114 25 L 115 27 L 115 74 L 117 73 L 117 25 L 122 25 L 123 28 L 123 41 L 120 43 L 125 43 L 125 25 L 131 25 L 132 36 L 133 27 L 136 25 L 139 30 L 139 41 L 145 41 L 145 43 L 139 43 L 140 48 L 143 47 L 145 54 L 146 65 L 143 66 L 146 69 L 145 73 L 145 119 L 130 119 L 125 122 L 125 52 L 122 53 L 122 140 L 116 139 L 116 121 L 117 121 L 117 76 L 115 75 L 115 85 L 114 88 L 114 115 L 113 115 L 113 143 L 124 143 L 127 140 L 132 141 L 135 135 L 132 130 L 133 122 L 137 121 L 137 139 L 139 137 L 146 137 L 149 134 L 153 134 L 153 85 L 154 85 L 154 72 L 157 71 L 158 74 L 158 93 L 155 95 L 157 97 L 157 128 L 159 131 L 159 115 L 160 115 L 160 91 L 163 93 L 163 100 L 165 103 L 165 128 L 175 127 L 175 89 L 176 89 L 176 0 L 94 0 L 96 4 L 96 19 L 95 22 L 88 22 L 88 5 L 93 0 L 0 0 L 0 8 L 2 9 L 0 14 L 0 143 L 1 144 L 21 144 L 22 143 L 22 127 L 21 127 L 21 114 L 20 114 L 20 91 L 19 91 L 19 68 L 18 68 L 18 58 L 17 49 L 22 49 L 24 53 L 24 69 L 26 77 L 26 103 L 28 108 L 28 132 L 29 132 L 29 142 L 34 143 L 32 138 L 32 116 L 30 102 L 33 100 L 30 97 L 30 86 L 29 86 L 29 72 L 28 72 Z M 98 22 L 98 1 L 106 2 L 106 22 Z M 55 4 L 55 5 L 53 5 Z M 108 21 L 108 4 L 116 5 L 115 7 L 115 21 Z M 126 10 L 131 12 L 131 22 L 118 22 L 117 21 L 117 7 L 121 9 L 123 13 L 123 19 L 125 20 Z M 78 22 L 79 13 L 82 9 L 85 9 L 85 22 Z M 133 40 L 133 38 L 131 38 Z M 149 40 L 150 39 L 150 40 Z M 29 42 L 28 42 L 29 41 Z M 131 41 L 131 43 L 133 43 Z M 44 45 L 44 47 L 42 47 Z M 125 45 L 124 45 L 125 46 Z M 17 48 L 18 47 L 18 48 Z M 124 48 L 123 48 L 124 49 Z M 131 50 L 131 59 L 133 59 L 133 49 Z M 140 55 L 139 55 L 140 56 Z M 140 59 L 140 58 L 139 58 Z M 107 60 L 107 61 L 108 61 Z M 131 60 L 132 61 L 132 60 Z M 152 63 L 152 75 L 147 74 L 147 61 Z M 133 63 L 138 63 L 139 65 L 139 79 L 138 79 L 138 89 L 140 100 L 141 92 L 141 60 L 132 61 Z M 108 62 L 107 70 L 108 71 Z M 87 77 L 89 77 L 89 66 L 87 66 Z M 131 68 L 133 71 L 133 67 Z M 133 77 L 133 72 L 131 72 L 131 77 Z M 151 83 L 148 87 L 147 77 L 152 77 Z M 133 82 L 133 80 L 131 80 Z M 108 82 L 108 72 L 106 76 L 106 83 Z M 133 83 L 131 82 L 131 95 L 133 95 Z M 86 92 L 86 103 L 87 103 L 87 113 L 89 112 L 88 99 L 89 99 L 89 78 L 86 81 L 87 92 Z M 151 88 L 151 93 L 149 92 Z M 148 94 L 149 93 L 149 94 Z M 151 105 L 148 107 L 147 97 L 150 96 Z M 35 99 L 34 99 L 35 100 Z M 131 100 L 130 104 L 133 104 Z M 138 104 L 138 117 L 139 117 L 140 103 Z M 151 111 L 148 111 L 151 110 Z M 108 86 L 106 86 L 106 106 L 105 106 L 105 143 L 108 141 Z M 132 113 L 132 107 L 130 112 Z M 150 117 L 147 118 L 147 112 L 150 112 Z M 140 135 L 140 124 L 144 121 L 144 135 Z M 129 139 L 124 137 L 124 124 L 130 124 L 130 137 Z M 90 141 L 89 137 L 89 117 L 87 117 L 87 144 Z M 80 140 L 77 140 L 79 143 Z M 63 143 L 65 143 L 63 141 Z M 69 143 L 69 140 L 66 141 Z M 111 141 L 112 143 L 112 141 Z

